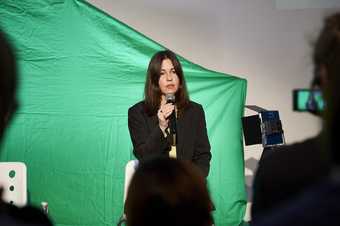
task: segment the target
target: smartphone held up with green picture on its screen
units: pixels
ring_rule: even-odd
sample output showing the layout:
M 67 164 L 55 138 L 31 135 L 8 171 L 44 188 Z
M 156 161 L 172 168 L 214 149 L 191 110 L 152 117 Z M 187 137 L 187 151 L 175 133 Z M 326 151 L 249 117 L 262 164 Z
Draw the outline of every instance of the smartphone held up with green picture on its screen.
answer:
M 322 112 L 325 102 L 321 90 L 316 89 L 294 89 L 293 110 L 300 112 Z

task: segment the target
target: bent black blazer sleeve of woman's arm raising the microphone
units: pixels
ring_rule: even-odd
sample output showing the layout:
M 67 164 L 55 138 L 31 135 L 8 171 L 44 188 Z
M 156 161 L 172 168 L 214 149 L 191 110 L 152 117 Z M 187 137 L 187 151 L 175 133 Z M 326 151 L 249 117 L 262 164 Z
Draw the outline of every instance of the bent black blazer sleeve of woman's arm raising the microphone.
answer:
M 166 156 L 170 144 L 158 124 L 148 128 L 146 114 L 142 108 L 132 107 L 128 112 L 128 126 L 133 144 L 133 153 L 139 160 Z

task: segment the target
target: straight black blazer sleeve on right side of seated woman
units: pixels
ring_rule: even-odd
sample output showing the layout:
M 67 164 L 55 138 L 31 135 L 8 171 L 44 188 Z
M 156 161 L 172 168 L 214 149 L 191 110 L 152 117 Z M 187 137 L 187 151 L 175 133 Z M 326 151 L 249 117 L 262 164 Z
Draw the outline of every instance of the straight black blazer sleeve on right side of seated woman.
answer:
M 201 105 L 197 111 L 197 131 L 194 147 L 193 162 L 202 170 L 205 177 L 209 174 L 210 169 L 210 143 L 205 122 L 205 115 Z

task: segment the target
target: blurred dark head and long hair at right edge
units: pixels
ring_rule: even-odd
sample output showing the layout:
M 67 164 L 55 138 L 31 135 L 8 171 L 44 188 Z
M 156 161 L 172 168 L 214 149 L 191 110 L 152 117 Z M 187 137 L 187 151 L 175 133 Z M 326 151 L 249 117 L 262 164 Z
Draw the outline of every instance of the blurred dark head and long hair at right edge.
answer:
M 322 81 L 320 77 L 323 75 L 327 80 L 325 84 L 321 84 L 327 104 L 325 111 L 327 139 L 332 150 L 332 159 L 340 164 L 340 152 L 337 150 L 340 128 L 340 12 L 325 19 L 315 43 L 313 61 L 314 80 Z

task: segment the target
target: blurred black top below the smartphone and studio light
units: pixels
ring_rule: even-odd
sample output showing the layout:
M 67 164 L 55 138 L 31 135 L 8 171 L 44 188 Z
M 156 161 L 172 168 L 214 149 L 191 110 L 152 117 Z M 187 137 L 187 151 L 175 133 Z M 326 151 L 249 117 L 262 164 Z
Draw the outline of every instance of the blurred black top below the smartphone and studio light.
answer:
M 328 175 L 329 158 L 320 142 L 320 138 L 315 137 L 264 152 L 253 184 L 253 221 Z

